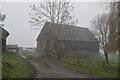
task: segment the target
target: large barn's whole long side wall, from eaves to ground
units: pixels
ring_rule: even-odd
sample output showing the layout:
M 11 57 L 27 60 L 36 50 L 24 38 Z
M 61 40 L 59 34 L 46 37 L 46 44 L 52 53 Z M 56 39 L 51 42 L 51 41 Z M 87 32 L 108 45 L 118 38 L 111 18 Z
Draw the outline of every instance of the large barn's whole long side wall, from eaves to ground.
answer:
M 62 55 L 79 56 L 84 59 L 99 60 L 99 43 L 85 41 L 58 41 L 58 51 Z

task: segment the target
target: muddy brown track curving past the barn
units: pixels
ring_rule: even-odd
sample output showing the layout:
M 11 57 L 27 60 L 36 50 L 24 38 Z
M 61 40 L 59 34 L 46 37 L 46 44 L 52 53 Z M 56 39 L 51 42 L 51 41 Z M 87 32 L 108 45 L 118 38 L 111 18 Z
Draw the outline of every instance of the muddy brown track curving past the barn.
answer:
M 25 56 L 24 56 L 25 57 Z M 35 78 L 101 78 L 97 75 L 80 73 L 56 64 L 50 63 L 45 58 L 40 58 L 39 61 L 33 61 L 25 57 L 36 69 Z

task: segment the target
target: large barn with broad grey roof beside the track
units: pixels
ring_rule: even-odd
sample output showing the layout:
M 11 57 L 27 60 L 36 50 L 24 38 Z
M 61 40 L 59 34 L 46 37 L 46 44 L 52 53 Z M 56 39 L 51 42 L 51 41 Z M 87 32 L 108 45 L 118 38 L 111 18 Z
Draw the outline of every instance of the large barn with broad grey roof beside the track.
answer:
M 59 28 L 56 28 L 59 26 Z M 59 29 L 59 30 L 58 30 Z M 57 32 L 58 31 L 58 32 Z M 57 41 L 56 41 L 56 33 Z M 46 22 L 37 37 L 37 48 L 65 52 L 99 53 L 99 42 L 88 28 Z

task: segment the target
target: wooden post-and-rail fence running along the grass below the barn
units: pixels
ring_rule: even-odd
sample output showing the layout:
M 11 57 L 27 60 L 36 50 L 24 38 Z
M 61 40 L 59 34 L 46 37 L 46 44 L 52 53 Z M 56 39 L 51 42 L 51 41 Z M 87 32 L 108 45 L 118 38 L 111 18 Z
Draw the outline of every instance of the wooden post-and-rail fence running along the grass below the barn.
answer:
M 104 69 L 112 69 L 117 71 L 118 70 L 118 63 L 109 63 L 106 64 L 104 60 L 91 60 L 82 58 L 80 56 L 59 56 L 57 55 L 56 51 L 50 51 L 48 56 L 55 58 L 59 62 L 69 63 L 75 66 L 82 67 L 83 64 L 89 64 L 93 66 L 99 66 Z

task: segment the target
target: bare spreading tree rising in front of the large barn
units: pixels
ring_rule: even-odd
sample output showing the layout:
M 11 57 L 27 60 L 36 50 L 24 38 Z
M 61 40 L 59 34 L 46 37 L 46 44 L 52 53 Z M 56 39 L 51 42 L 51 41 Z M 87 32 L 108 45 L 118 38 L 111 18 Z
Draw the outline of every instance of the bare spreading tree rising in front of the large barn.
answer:
M 30 24 L 31 26 L 37 26 L 39 29 L 44 25 L 45 22 L 57 23 L 55 27 L 55 50 L 57 50 L 56 41 L 58 40 L 61 25 L 59 24 L 70 24 L 73 25 L 77 22 L 74 16 L 71 15 L 73 7 L 70 2 L 58 2 L 48 1 L 38 3 L 38 5 L 30 5 L 32 12 L 30 13 Z

